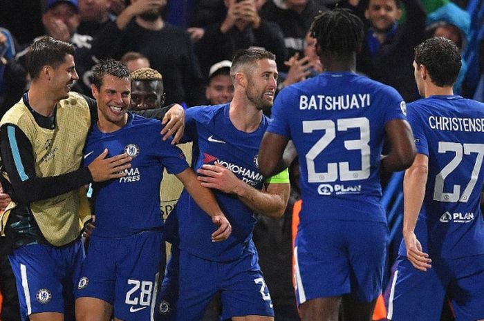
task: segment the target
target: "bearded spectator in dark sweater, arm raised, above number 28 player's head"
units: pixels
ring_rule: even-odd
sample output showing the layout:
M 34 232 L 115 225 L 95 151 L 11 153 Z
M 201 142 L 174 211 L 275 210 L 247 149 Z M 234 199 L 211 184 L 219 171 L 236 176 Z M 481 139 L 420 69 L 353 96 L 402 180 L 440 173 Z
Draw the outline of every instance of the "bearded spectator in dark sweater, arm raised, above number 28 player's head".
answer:
M 203 76 L 192 41 L 185 30 L 165 23 L 160 14 L 165 6 L 166 0 L 131 0 L 95 37 L 93 54 L 120 59 L 126 52 L 140 52 L 163 75 L 168 104 L 203 104 Z

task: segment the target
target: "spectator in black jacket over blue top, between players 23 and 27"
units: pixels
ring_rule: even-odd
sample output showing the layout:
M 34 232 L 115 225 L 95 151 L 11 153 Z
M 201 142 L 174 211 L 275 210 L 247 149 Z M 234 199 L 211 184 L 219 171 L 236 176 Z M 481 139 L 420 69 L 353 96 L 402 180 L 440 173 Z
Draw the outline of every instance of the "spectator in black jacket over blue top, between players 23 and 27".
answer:
M 401 3 L 407 8 L 407 21 L 400 24 Z M 424 39 L 425 11 L 419 0 L 369 0 L 364 12 L 370 23 L 356 69 L 364 75 L 392 86 L 405 101 L 418 99 L 411 71 L 413 48 Z

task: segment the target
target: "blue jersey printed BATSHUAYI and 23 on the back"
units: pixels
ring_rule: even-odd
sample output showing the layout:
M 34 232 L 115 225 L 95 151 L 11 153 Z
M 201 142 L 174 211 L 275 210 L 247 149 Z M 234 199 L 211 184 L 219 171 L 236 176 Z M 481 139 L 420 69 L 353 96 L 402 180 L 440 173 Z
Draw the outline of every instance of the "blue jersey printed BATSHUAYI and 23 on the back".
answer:
M 405 119 L 404 110 L 395 89 L 353 72 L 323 72 L 281 90 L 268 131 L 297 149 L 301 226 L 386 222 L 378 176 L 384 126 Z

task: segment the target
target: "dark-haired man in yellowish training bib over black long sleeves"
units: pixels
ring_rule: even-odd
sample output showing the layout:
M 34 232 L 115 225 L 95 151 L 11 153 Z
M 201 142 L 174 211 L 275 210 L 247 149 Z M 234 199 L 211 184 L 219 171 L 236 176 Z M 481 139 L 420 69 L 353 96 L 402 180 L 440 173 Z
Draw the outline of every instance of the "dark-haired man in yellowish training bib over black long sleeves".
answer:
M 1 119 L 2 185 L 13 201 L 2 226 L 14 242 L 9 259 L 22 320 L 74 319 L 75 273 L 84 257 L 80 218 L 89 218 L 80 188 L 124 177 L 129 168 L 129 156 L 107 152 L 80 167 L 97 112 L 93 99 L 71 93 L 79 78 L 74 50 L 51 37 L 35 41 L 27 56 L 30 90 Z M 163 133 L 176 129 L 170 123 Z

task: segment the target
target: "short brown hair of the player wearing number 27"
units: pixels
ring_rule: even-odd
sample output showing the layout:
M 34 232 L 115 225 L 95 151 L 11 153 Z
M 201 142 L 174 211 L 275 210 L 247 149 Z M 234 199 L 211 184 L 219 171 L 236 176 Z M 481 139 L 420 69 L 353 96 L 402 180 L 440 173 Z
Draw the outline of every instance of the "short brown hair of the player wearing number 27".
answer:
M 427 68 L 432 82 L 439 87 L 452 86 L 462 65 L 455 43 L 443 37 L 430 38 L 416 46 L 415 62 Z

